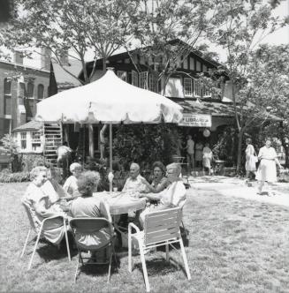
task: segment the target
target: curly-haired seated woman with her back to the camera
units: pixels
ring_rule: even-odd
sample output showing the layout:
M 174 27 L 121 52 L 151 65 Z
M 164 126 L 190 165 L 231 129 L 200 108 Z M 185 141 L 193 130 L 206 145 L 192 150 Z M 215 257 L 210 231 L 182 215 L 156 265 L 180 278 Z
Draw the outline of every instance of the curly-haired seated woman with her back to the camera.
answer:
M 110 214 L 106 212 L 103 201 L 98 198 L 93 198 L 93 192 L 97 189 L 100 175 L 95 171 L 83 172 L 77 180 L 78 190 L 80 197 L 72 200 L 71 214 L 73 218 L 80 217 L 104 217 L 110 220 Z M 103 246 L 110 240 L 110 230 L 108 228 L 100 229 L 94 234 L 90 234 L 89 237 L 83 237 L 77 234 L 77 241 L 86 246 Z

